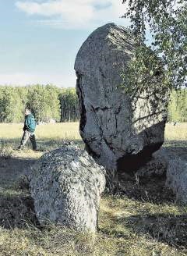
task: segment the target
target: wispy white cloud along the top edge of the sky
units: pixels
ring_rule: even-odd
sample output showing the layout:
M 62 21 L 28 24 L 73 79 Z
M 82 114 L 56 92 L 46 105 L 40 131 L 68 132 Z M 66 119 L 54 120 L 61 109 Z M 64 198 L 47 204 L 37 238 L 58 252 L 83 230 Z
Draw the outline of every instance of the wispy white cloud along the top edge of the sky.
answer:
M 97 27 L 120 20 L 126 10 L 122 0 L 45 0 L 17 1 L 16 7 L 29 16 L 43 17 L 37 23 L 64 29 Z

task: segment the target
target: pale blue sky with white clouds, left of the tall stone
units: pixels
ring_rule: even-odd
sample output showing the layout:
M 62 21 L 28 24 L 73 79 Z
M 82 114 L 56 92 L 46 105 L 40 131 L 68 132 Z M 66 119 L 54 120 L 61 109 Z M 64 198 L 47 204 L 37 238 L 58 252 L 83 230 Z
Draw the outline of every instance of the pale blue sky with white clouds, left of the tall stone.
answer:
M 105 23 L 127 26 L 124 12 L 122 0 L 0 0 L 0 84 L 75 87 L 81 44 Z

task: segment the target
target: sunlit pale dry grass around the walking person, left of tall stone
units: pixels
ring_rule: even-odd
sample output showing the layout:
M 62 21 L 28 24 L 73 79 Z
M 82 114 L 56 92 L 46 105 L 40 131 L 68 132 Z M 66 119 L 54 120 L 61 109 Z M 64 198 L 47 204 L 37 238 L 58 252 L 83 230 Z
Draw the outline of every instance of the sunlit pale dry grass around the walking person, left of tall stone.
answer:
M 74 140 L 81 142 L 79 136 L 79 123 L 56 123 L 37 126 L 36 130 L 37 148 L 39 151 L 31 150 L 30 143 L 26 145 L 23 151 L 13 151 L 19 145 L 19 141 L 23 135 L 23 124 L 0 123 L 0 141 L 6 147 L 8 153 L 12 150 L 12 155 L 21 158 L 39 158 L 44 151 L 54 148 L 60 148 L 62 140 Z M 1 150 L 0 150 L 1 154 Z

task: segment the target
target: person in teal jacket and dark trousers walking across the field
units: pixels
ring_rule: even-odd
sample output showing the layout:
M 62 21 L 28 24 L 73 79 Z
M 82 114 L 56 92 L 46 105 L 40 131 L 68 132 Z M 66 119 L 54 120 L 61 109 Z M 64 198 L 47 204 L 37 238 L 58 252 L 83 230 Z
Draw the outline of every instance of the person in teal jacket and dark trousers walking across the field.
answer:
M 35 129 L 36 129 L 36 121 L 34 119 L 34 115 L 31 113 L 30 109 L 26 108 L 25 109 L 25 122 L 24 122 L 24 126 L 23 126 L 23 137 L 20 141 L 18 150 L 23 149 L 27 140 L 30 139 L 33 150 L 37 151 L 36 137 L 34 134 Z

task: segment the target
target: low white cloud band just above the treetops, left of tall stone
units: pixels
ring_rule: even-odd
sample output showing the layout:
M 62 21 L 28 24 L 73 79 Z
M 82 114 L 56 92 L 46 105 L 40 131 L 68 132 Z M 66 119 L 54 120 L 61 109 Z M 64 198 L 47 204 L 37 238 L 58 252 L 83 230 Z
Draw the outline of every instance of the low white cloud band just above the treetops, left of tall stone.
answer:
M 0 73 L 0 86 L 23 86 L 27 84 L 55 84 L 59 87 L 76 87 L 76 74 L 73 70 L 65 74 Z

